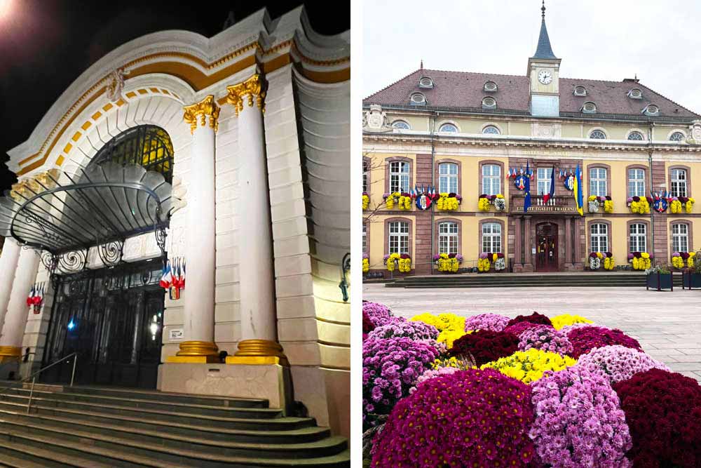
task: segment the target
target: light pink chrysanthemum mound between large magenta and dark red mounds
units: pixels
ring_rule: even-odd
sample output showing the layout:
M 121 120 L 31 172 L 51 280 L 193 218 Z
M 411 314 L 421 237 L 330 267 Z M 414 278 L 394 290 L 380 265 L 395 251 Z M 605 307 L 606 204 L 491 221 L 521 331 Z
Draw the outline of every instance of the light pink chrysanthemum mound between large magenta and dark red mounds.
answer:
M 536 420 L 530 436 L 552 468 L 629 467 L 632 446 L 618 395 L 604 377 L 573 368 L 531 384 Z

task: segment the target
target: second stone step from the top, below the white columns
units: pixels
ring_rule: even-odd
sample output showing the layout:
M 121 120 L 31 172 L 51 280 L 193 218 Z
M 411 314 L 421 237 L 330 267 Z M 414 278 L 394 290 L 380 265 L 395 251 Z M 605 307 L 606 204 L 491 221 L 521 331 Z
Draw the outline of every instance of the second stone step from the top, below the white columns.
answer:
M 18 396 L 29 396 L 29 389 L 12 389 L 8 393 Z M 71 387 L 66 387 L 63 392 L 46 392 L 34 389 L 34 398 L 48 398 L 50 400 L 75 401 L 99 403 L 105 405 L 119 405 L 129 408 L 143 408 L 159 411 L 171 411 L 175 413 L 186 413 L 194 415 L 210 415 L 219 417 L 253 417 L 266 419 L 280 417 L 283 411 L 273 408 L 242 408 L 239 406 L 210 406 L 193 403 L 172 402 L 167 397 L 161 401 L 154 399 L 121 398 L 120 396 L 93 395 L 74 393 Z

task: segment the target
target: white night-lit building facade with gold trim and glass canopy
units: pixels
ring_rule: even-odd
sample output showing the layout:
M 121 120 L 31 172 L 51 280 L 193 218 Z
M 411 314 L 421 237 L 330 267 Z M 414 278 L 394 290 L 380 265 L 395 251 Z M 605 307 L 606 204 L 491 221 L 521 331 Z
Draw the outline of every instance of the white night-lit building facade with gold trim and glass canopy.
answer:
M 349 80 L 349 32 L 301 7 L 149 34 L 83 72 L 9 151 L 3 362 L 80 352 L 79 383 L 299 401 L 348 435 Z M 162 260 L 185 278 L 165 297 Z

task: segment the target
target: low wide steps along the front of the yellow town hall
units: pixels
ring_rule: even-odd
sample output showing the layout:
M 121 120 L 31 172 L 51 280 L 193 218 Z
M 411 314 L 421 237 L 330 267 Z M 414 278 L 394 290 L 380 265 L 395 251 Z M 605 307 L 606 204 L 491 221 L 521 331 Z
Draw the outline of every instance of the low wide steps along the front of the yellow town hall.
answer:
M 681 274 L 674 275 L 674 286 L 681 289 Z M 435 274 L 404 276 L 386 288 L 608 288 L 645 287 L 644 273 L 491 273 Z

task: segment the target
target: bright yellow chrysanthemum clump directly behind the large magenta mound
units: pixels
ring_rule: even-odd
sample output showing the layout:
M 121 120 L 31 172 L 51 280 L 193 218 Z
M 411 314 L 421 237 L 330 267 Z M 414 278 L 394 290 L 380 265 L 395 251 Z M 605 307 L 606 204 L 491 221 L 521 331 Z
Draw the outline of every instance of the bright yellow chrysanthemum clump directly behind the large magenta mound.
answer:
M 496 369 L 508 377 L 529 384 L 543 377 L 546 370 L 557 372 L 557 370 L 574 366 L 576 363 L 577 361 L 569 356 L 560 356 L 557 353 L 531 348 L 486 363 L 480 369 Z

